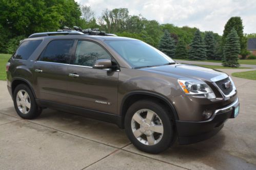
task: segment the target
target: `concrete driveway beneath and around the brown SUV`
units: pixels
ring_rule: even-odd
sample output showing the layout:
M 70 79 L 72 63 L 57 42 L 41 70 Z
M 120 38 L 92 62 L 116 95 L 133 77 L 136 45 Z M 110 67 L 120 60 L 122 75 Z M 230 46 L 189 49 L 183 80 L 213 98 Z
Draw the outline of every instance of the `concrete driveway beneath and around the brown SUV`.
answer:
M 256 169 L 256 81 L 233 80 L 238 117 L 206 141 L 175 143 L 158 155 L 138 151 L 124 130 L 98 120 L 50 109 L 21 119 L 0 81 L 0 169 Z

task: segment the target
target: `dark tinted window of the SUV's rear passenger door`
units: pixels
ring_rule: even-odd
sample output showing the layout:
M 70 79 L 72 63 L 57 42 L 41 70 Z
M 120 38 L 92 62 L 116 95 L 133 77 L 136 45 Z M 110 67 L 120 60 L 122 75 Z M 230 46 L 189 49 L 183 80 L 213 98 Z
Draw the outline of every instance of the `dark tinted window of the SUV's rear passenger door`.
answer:
M 73 44 L 74 40 L 53 40 L 38 60 L 69 64 Z

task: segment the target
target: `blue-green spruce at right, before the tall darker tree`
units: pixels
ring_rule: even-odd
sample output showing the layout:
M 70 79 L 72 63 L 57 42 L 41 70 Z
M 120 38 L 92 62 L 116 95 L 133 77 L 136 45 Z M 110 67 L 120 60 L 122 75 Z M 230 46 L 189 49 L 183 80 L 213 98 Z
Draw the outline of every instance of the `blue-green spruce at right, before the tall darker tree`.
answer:
M 238 67 L 238 55 L 240 53 L 240 42 L 237 31 L 233 28 L 226 38 L 226 44 L 223 49 L 223 66 Z

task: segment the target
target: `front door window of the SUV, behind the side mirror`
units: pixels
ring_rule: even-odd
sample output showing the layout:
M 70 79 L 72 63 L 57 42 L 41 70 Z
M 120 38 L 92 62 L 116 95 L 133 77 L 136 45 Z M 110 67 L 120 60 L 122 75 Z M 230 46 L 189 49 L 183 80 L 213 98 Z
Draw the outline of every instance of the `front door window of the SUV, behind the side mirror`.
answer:
M 92 67 L 98 59 L 109 59 L 110 55 L 98 44 L 90 41 L 78 41 L 72 64 Z

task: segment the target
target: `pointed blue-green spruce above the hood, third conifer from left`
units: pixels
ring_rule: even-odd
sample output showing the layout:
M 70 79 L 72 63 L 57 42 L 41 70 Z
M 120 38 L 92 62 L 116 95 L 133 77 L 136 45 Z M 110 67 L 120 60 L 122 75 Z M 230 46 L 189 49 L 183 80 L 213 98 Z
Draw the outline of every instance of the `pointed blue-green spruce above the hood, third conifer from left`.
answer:
M 199 30 L 196 30 L 194 33 L 194 38 L 190 44 L 188 58 L 191 60 L 206 60 L 205 44 Z

